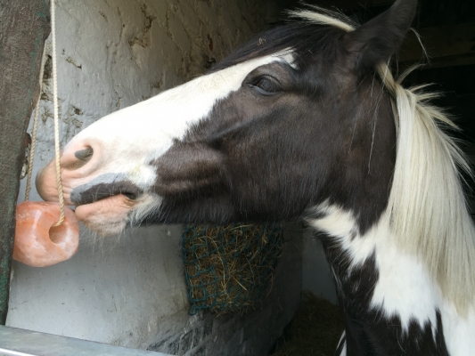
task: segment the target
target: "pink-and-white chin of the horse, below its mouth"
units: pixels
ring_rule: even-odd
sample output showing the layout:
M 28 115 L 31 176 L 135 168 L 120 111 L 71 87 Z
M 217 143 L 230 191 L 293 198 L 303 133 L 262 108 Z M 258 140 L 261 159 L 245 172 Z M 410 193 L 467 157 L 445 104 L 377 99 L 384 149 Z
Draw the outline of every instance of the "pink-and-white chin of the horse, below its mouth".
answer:
M 135 204 L 134 200 L 119 194 L 77 206 L 76 216 L 87 228 L 103 237 L 117 235 L 126 228 L 128 214 Z

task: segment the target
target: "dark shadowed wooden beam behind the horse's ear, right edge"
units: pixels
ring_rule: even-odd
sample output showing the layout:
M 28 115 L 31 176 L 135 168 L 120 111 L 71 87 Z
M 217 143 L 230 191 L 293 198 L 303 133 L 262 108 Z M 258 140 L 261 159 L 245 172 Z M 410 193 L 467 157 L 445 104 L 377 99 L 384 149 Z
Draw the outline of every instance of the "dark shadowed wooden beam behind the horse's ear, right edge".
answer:
M 475 63 L 475 21 L 421 28 L 418 33 L 432 64 L 427 68 Z M 411 32 L 399 51 L 399 62 L 410 64 L 422 59 L 422 46 Z

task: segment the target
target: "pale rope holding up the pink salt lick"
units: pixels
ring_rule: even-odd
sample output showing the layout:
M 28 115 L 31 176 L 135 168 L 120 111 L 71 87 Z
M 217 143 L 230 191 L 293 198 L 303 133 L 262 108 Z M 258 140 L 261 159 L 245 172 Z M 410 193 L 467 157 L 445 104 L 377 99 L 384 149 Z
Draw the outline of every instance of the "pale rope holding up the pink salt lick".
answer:
M 53 117 L 54 117 L 54 153 L 55 153 L 55 166 L 56 166 L 56 186 L 58 188 L 58 198 L 60 203 L 60 219 L 53 226 L 59 226 L 64 221 L 64 196 L 62 194 L 61 183 L 61 165 L 60 165 L 60 125 L 58 117 L 58 80 L 56 76 L 56 21 L 54 12 L 54 0 L 51 0 L 51 42 L 52 42 L 52 64 L 53 64 Z M 41 99 L 41 87 L 43 84 L 43 75 L 45 72 L 45 53 L 41 61 L 41 69 L 39 74 L 40 90 L 37 100 L 37 108 L 35 110 L 35 118 L 33 121 L 33 132 L 31 138 L 31 149 L 29 152 L 29 169 L 27 178 L 27 188 L 25 191 L 25 200 L 29 200 L 29 190 L 31 190 L 31 173 L 33 170 L 33 159 L 35 158 L 35 149 L 37 146 L 37 121 L 39 116 L 39 102 Z

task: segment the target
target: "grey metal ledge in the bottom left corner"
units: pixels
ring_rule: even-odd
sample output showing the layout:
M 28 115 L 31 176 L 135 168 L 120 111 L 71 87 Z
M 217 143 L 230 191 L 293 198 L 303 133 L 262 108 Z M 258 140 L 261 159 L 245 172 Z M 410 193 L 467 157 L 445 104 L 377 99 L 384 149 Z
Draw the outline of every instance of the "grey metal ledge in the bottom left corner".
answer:
M 2 356 L 171 356 L 0 326 Z

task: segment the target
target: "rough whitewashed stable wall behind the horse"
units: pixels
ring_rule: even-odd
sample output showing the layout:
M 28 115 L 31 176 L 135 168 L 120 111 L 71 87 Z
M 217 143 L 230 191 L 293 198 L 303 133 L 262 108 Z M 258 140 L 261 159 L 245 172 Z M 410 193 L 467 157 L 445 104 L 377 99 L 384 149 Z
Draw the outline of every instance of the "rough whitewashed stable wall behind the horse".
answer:
M 201 74 L 266 18 L 258 0 L 56 3 L 61 146 L 96 119 Z M 53 158 L 50 66 L 34 174 Z M 14 263 L 7 325 L 176 354 L 265 354 L 299 304 L 301 232 L 285 245 L 262 310 L 244 319 L 189 317 L 181 232 L 157 226 L 102 240 L 83 229 L 70 261 L 43 269 Z

